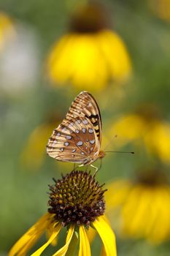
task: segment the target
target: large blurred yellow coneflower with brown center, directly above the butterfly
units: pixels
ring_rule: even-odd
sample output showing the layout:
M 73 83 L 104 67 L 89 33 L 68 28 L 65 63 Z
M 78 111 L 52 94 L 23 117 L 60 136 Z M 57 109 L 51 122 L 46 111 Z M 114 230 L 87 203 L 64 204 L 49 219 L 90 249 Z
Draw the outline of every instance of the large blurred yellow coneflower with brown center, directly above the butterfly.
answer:
M 72 83 L 77 89 L 102 89 L 131 71 L 123 40 L 108 29 L 103 10 L 88 5 L 72 18 L 71 31 L 53 46 L 47 69 L 54 84 Z

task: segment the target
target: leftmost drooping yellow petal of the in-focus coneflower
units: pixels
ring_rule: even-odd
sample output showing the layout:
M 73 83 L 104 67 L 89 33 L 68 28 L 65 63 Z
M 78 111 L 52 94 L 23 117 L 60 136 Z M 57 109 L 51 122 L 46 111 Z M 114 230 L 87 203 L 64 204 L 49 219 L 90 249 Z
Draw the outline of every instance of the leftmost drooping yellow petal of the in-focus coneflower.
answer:
M 25 255 L 26 252 L 33 246 L 36 241 L 42 236 L 45 229 L 51 221 L 51 214 L 45 214 L 41 219 L 39 219 L 34 226 L 32 226 L 18 241 L 12 246 L 9 251 L 9 256 L 14 255 Z

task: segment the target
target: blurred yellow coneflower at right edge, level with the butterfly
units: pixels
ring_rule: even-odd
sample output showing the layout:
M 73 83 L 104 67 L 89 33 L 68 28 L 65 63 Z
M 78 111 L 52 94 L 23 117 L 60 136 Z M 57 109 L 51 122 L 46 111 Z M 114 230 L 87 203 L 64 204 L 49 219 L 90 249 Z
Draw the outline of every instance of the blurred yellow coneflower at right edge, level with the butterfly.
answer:
M 162 121 L 152 106 L 144 106 L 142 110 L 118 119 L 110 129 L 111 135 L 113 132 L 119 135 L 118 146 L 129 142 L 136 146 L 143 144 L 164 162 L 170 161 L 170 124 Z

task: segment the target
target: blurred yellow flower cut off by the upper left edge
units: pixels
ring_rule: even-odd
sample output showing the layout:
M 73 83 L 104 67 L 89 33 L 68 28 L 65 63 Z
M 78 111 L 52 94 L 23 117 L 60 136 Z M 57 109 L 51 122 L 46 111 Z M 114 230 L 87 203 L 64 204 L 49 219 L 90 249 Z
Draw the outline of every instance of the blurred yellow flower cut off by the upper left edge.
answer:
M 12 25 L 12 20 L 10 20 L 4 12 L 0 12 L 0 52 L 7 42 L 7 39 L 13 37 L 14 34 L 15 30 Z

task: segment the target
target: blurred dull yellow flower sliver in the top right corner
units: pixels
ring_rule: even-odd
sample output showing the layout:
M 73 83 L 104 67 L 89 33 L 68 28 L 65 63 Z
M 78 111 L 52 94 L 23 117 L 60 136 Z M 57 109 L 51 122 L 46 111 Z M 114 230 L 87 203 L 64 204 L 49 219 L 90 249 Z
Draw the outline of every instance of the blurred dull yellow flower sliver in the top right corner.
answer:
M 150 0 L 149 3 L 159 18 L 170 21 L 170 0 Z

